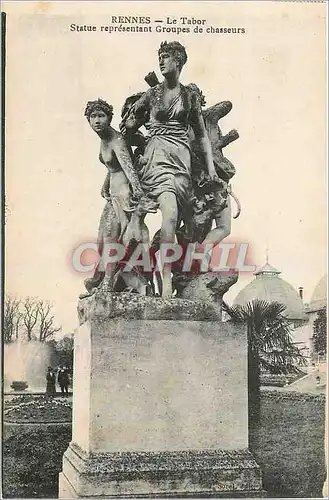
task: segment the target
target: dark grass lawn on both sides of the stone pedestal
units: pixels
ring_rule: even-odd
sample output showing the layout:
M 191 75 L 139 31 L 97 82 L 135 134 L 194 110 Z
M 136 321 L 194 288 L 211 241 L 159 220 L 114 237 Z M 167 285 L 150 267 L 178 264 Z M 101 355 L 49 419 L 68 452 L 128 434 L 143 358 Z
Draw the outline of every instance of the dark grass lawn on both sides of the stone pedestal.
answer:
M 262 391 L 249 440 L 269 496 L 321 497 L 324 404 L 323 395 Z M 3 497 L 56 498 L 70 439 L 67 425 L 16 430 L 3 444 Z

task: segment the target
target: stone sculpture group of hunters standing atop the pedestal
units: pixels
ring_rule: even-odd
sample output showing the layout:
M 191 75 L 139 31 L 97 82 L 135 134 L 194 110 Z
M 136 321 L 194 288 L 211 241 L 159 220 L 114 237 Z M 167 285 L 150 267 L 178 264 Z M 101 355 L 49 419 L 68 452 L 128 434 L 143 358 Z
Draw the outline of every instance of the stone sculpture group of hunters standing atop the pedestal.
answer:
M 101 139 L 99 159 L 107 168 L 98 252 L 104 256 L 111 244 L 124 250 L 120 259 L 100 258 L 81 298 L 100 288 L 187 297 L 200 280 L 216 297 L 221 282 L 221 273 L 211 269 L 211 253 L 230 234 L 231 198 L 237 204 L 233 217 L 240 213 L 229 184 L 235 168 L 223 155 L 239 135 L 236 130 L 223 135 L 218 125 L 232 104 L 205 108 L 198 86 L 180 83 L 187 54 L 179 42 L 161 43 L 158 58 L 163 81 L 151 72 L 145 77 L 150 88 L 126 99 L 120 132 L 111 127 L 113 107 L 106 101 L 86 106 L 85 116 Z M 157 210 L 162 224 L 151 241 L 145 217 Z M 186 265 L 188 252 L 191 265 Z M 141 254 L 147 258 L 138 260 Z M 201 260 L 195 260 L 197 254 Z M 233 272 L 227 288 L 236 280 Z

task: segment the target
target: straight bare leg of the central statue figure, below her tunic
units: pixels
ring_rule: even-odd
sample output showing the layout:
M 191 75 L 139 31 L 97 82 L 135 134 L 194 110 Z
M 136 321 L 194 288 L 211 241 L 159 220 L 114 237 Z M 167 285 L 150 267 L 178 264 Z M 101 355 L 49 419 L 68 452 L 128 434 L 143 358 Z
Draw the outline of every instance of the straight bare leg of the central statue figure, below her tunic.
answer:
M 159 198 L 159 208 L 162 214 L 160 253 L 162 243 L 174 243 L 178 219 L 178 207 L 174 193 L 162 193 Z M 165 263 L 162 267 L 162 297 L 172 297 L 171 263 Z

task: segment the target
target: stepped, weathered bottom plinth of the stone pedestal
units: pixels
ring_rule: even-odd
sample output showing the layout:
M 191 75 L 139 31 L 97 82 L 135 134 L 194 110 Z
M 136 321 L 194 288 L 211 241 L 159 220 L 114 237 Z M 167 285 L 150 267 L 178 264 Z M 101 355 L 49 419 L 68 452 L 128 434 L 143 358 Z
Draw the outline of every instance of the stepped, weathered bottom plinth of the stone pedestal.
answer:
M 73 443 L 59 489 L 59 498 L 261 496 L 261 472 L 248 450 L 93 455 Z

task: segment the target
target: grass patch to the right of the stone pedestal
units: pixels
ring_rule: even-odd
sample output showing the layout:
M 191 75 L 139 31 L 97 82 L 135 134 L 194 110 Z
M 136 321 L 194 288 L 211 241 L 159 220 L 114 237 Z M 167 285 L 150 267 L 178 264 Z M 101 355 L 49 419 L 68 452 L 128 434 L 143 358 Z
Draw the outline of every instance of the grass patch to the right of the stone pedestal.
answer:
M 321 395 L 263 391 L 249 446 L 274 497 L 321 497 L 325 479 L 324 407 Z

